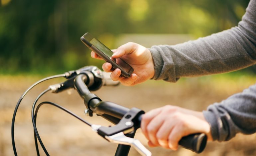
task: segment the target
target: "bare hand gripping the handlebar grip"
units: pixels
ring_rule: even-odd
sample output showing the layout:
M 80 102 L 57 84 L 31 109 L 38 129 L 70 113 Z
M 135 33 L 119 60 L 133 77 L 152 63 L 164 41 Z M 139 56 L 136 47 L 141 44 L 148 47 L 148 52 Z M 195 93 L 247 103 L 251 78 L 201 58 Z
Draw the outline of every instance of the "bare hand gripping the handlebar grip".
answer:
M 210 125 L 202 112 L 167 105 L 142 116 L 141 129 L 151 147 L 178 149 L 178 142 L 193 133 L 205 133 L 212 140 Z

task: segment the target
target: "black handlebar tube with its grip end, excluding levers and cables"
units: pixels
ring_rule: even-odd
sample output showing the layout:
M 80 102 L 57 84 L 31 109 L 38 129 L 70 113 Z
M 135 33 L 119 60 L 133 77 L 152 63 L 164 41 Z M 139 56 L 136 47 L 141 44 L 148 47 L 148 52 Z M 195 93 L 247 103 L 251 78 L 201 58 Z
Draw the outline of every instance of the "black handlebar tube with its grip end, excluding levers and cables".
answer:
M 84 103 L 90 111 L 89 115 L 92 116 L 92 113 L 96 113 L 117 124 L 130 109 L 112 102 L 101 101 L 95 94 L 90 93 L 85 85 L 88 81 L 87 78 L 88 76 L 84 74 L 76 76 L 74 79 L 74 86 L 79 95 L 84 99 Z M 137 122 L 137 125 L 135 126 L 138 128 L 140 127 L 141 118 L 141 116 L 138 116 L 137 118 L 139 122 Z M 206 143 L 207 136 L 204 133 L 190 134 L 179 141 L 179 145 L 196 153 L 201 153 L 204 150 Z

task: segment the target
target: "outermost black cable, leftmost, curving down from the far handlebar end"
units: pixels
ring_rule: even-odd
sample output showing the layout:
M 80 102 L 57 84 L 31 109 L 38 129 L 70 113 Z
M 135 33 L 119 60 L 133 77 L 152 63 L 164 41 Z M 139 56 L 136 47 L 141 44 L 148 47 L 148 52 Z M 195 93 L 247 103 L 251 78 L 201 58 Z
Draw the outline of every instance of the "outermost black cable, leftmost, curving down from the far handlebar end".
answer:
M 13 147 L 13 152 L 14 152 L 14 155 L 17 156 L 17 151 L 16 151 L 16 146 L 15 146 L 15 140 L 14 140 L 14 123 L 15 123 L 15 117 L 16 117 L 16 114 L 17 114 L 17 111 L 18 111 L 18 108 L 20 106 L 20 103 L 22 101 L 22 99 L 25 97 L 25 95 L 33 88 L 35 87 L 36 85 L 38 85 L 39 83 L 43 82 L 43 81 L 46 81 L 46 80 L 49 80 L 49 79 L 53 79 L 53 78 L 58 78 L 58 77 L 65 77 L 65 74 L 60 74 L 60 75 L 54 75 L 54 76 L 50 76 L 50 77 L 47 77 L 47 78 L 44 78 L 42 80 L 39 80 L 37 81 L 36 83 L 34 83 L 32 86 L 30 86 L 23 94 L 22 96 L 20 97 L 15 109 L 14 109 L 14 113 L 13 113 L 13 117 L 12 117 L 12 128 L 11 128 L 11 135 L 12 135 L 12 147 Z

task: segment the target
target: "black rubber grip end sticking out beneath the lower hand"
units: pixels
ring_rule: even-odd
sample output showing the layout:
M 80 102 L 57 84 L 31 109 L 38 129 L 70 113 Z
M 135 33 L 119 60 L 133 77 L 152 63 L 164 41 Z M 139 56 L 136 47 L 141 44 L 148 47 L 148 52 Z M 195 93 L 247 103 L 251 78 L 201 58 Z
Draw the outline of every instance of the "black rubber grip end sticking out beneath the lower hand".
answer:
M 206 143 L 207 135 L 204 133 L 190 134 L 188 136 L 184 136 L 179 141 L 179 145 L 190 149 L 195 153 L 201 153 L 204 150 Z

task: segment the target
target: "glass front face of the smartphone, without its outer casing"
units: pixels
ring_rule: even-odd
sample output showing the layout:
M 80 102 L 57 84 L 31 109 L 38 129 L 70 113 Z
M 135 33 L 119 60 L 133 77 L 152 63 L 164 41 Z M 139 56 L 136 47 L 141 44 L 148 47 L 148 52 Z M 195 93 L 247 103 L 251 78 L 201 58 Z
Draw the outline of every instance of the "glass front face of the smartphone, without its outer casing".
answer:
M 101 52 L 103 52 L 111 60 L 116 62 L 116 64 L 118 64 L 120 67 L 122 67 L 126 72 L 129 73 L 129 71 L 132 69 L 131 66 L 129 64 L 127 64 L 126 62 L 124 62 L 122 59 L 120 59 L 120 58 L 117 58 L 117 59 L 113 58 L 112 57 L 113 51 L 111 51 L 108 47 L 106 47 L 104 44 L 102 44 L 97 39 L 95 39 L 95 38 L 91 39 L 90 43 L 92 45 L 94 45 L 97 49 L 99 49 Z

